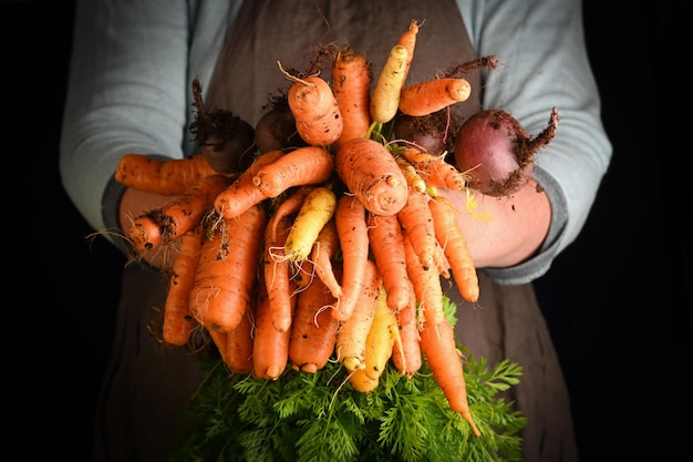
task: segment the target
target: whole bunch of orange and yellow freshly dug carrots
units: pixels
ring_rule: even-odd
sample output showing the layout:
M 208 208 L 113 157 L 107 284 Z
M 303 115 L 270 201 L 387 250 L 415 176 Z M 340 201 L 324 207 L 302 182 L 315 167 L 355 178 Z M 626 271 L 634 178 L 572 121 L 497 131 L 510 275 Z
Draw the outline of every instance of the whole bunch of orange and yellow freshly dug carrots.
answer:
M 127 154 L 115 177 L 170 196 L 127 230 L 137 253 L 177 249 L 163 310 L 167 343 L 184 346 L 203 328 L 230 371 L 270 380 L 288 367 L 316 372 L 334 357 L 363 392 L 377 387 L 387 361 L 411 377 L 425 359 L 479 435 L 441 277 L 452 274 L 469 302 L 478 279 L 459 211 L 436 194 L 467 182 L 442 155 L 382 135 L 399 111 L 421 116 L 469 95 L 461 78 L 404 85 L 417 33 L 413 21 L 376 82 L 348 47 L 333 53 L 330 82 L 282 69 L 306 145 L 256 152 L 231 173 L 203 155 Z

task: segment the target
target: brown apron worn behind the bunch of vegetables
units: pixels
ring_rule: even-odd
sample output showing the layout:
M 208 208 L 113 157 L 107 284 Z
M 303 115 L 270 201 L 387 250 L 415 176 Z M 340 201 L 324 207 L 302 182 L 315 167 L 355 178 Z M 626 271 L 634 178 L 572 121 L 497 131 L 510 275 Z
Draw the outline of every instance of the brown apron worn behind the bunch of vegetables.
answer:
M 475 58 L 454 0 L 399 2 L 397 8 L 372 1 L 247 1 L 213 73 L 207 105 L 255 124 L 268 97 L 290 84 L 277 61 L 307 69 L 317 47 L 348 42 L 377 70 L 412 20 L 423 24 L 408 82 Z M 474 91 L 457 105 L 463 116 L 480 107 L 480 78 L 467 78 Z M 483 273 L 479 279 L 477 307 L 464 302 L 454 287 L 448 290 L 458 304 L 457 340 L 490 367 L 508 358 L 524 368 L 521 383 L 508 394 L 528 418 L 524 460 L 577 461 L 567 388 L 532 286 L 499 286 Z M 167 438 L 200 379 L 187 353 L 162 350 L 146 331 L 155 316 L 152 307 L 163 305 L 165 290 L 159 275 L 126 268 L 110 382 L 96 422 L 96 460 L 163 462 Z

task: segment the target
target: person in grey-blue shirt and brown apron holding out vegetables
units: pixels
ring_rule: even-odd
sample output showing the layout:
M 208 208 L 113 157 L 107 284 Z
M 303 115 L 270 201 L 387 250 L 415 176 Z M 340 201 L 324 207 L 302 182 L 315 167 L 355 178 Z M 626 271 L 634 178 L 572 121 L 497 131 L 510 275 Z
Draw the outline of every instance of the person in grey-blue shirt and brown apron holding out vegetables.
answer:
M 462 117 L 482 109 L 511 112 L 539 133 L 552 107 L 561 123 L 535 160 L 532 178 L 504 198 L 476 194 L 492 220 L 462 215 L 478 268 L 479 309 L 457 290 L 455 336 L 489 363 L 524 368 L 510 399 L 528 419 L 524 460 L 577 461 L 570 400 L 532 280 L 550 269 L 585 224 L 610 158 L 598 89 L 589 65 L 579 0 L 438 2 L 79 0 L 60 146 L 63 185 L 89 224 L 111 233 L 168 197 L 114 181 L 121 157 L 183 158 L 198 79 L 208 107 L 255 125 L 270 94 L 287 88 L 285 66 L 308 68 L 318 44 L 348 41 L 382 66 L 403 30 L 420 31 L 406 82 L 430 80 L 453 63 L 495 57 L 501 64 L 468 75 Z M 329 73 L 329 70 L 325 70 Z M 329 75 L 321 74 L 329 81 Z M 464 193 L 439 194 L 465 209 Z M 203 379 L 184 349 L 162 352 L 147 331 L 167 279 L 156 258 L 124 268 L 112 363 L 95 429 L 95 461 L 164 461 L 188 399 Z

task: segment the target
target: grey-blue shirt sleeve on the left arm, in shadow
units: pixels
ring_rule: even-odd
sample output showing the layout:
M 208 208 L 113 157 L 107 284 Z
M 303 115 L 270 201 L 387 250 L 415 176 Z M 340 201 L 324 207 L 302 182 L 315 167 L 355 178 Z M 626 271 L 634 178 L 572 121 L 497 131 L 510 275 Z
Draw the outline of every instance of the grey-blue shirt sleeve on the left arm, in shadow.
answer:
M 182 0 L 76 4 L 60 172 L 94 229 L 123 154 L 184 155 L 187 18 Z

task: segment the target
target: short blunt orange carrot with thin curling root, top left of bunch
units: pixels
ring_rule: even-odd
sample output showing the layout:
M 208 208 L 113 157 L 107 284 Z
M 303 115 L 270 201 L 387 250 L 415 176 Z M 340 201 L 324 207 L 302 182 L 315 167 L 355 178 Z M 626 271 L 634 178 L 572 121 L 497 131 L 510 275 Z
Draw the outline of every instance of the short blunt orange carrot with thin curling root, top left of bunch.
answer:
M 296 130 L 313 146 L 335 142 L 344 129 L 339 104 L 332 89 L 319 76 L 292 78 L 287 100 L 296 119 Z

